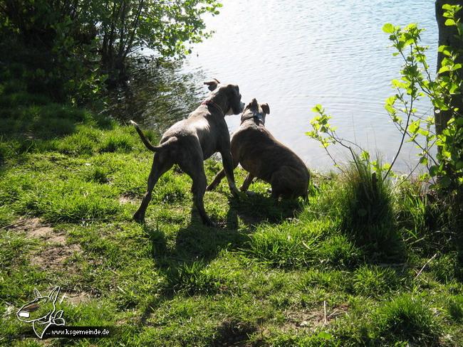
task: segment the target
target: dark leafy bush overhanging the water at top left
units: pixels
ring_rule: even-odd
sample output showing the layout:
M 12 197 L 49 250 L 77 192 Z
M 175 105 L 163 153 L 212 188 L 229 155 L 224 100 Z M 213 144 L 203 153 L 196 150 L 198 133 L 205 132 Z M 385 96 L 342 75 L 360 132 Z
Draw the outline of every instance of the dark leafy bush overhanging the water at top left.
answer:
M 27 66 L 21 78 L 28 92 L 80 103 L 94 100 L 104 82 L 125 80 L 126 59 L 137 48 L 162 58 L 187 54 L 186 42 L 208 36 L 202 15 L 218 14 L 219 6 L 216 0 L 6 1 L 0 50 Z

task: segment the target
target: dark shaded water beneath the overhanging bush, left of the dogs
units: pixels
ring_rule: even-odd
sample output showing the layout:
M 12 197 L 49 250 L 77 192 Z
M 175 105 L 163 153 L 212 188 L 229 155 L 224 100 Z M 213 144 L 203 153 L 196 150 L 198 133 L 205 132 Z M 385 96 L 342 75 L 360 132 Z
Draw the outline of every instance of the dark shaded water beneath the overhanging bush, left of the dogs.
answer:
M 207 95 L 196 75 L 183 73 L 182 62 L 140 57 L 130 61 L 130 79 L 109 94 L 108 114 L 121 122 L 133 119 L 162 134 L 188 117 Z

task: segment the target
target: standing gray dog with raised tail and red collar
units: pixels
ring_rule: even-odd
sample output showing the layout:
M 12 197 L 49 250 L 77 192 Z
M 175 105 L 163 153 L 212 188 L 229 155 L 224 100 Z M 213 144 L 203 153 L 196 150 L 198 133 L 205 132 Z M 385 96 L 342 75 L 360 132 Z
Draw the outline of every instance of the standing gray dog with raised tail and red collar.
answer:
M 204 82 L 204 85 L 209 86 L 211 95 L 187 119 L 167 129 L 159 146 L 152 146 L 137 124 L 131 121 L 147 149 L 155 152 L 147 191 L 140 208 L 133 215 L 139 223 L 145 220 L 145 211 L 157 180 L 177 164 L 193 180 L 194 205 L 201 216 L 202 223 L 214 225 L 204 210 L 203 197 L 207 181 L 203 161 L 217 151 L 222 154 L 230 191 L 234 196 L 239 196 L 230 154 L 230 135 L 224 119 L 225 114 L 239 114 L 243 110 L 244 104 L 241 102 L 239 87 L 224 85 L 218 80 Z

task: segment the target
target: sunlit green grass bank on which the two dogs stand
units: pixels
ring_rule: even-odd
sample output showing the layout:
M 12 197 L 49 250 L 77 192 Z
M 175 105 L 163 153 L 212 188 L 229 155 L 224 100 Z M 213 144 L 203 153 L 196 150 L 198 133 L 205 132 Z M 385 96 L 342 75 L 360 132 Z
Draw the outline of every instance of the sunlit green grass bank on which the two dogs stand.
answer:
M 192 209 L 190 178 L 175 168 L 138 225 L 131 216 L 152 154 L 134 129 L 7 77 L 0 345 L 42 344 L 24 337 L 31 326 L 15 314 L 34 288 L 56 285 L 66 325 L 117 326 L 121 346 L 463 344 L 461 255 L 422 187 L 373 183 L 367 166 L 350 167 L 315 175 L 319 190 L 303 203 L 272 201 L 263 182 L 235 199 L 223 181 L 204 197 L 219 223 L 207 228 Z M 205 163 L 208 181 L 221 167 Z M 237 169 L 238 184 L 244 177 Z

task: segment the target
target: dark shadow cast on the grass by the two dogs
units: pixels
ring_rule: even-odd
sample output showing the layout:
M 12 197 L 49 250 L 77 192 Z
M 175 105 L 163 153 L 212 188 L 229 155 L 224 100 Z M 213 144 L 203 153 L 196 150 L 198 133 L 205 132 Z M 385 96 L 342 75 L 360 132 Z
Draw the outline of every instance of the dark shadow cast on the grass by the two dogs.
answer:
M 222 292 L 221 284 L 204 271 L 209 263 L 223 250 L 248 247 L 249 234 L 253 233 L 256 225 L 281 223 L 302 208 L 298 201 L 274 201 L 261 194 L 239 200 L 230 198 L 224 228 L 203 225 L 193 209 L 189 224 L 177 232 L 173 249 L 167 247 L 165 233 L 159 226 L 145 225 L 152 245 L 152 257 L 167 284 L 160 296 L 147 305 L 140 323 L 146 324 L 152 311 L 162 302 L 173 299 L 177 292 L 187 295 Z M 238 228 L 239 219 L 243 221 L 244 228 Z

